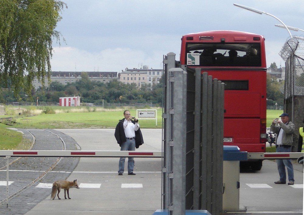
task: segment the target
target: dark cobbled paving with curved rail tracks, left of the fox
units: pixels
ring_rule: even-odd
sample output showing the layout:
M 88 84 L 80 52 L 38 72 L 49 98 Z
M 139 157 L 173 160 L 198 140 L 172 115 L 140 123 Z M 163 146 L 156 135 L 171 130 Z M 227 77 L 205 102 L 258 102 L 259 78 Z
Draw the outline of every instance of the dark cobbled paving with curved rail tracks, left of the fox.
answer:
M 49 131 L 43 129 L 18 129 L 23 133 L 23 136 L 27 139 L 32 139 L 34 142 L 33 150 L 63 150 L 62 141 L 56 136 L 55 133 L 65 142 L 66 150 L 77 150 L 76 142 L 71 137 L 50 129 Z M 9 181 L 12 182 L 9 185 L 9 196 L 18 192 L 14 198 L 9 200 L 8 207 L 5 203 L 0 205 L 1 214 L 25 214 L 32 209 L 42 199 L 45 199 L 49 195 L 49 191 L 36 187 L 39 183 L 53 183 L 58 178 L 67 178 L 71 171 L 78 164 L 79 158 L 62 158 L 57 166 L 48 174 L 40 175 L 46 171 L 57 160 L 56 157 L 22 157 L 16 159 L 12 157 L 9 159 L 12 164 L 9 167 Z M 6 158 L 0 158 L 0 181 L 5 182 L 5 185 L 0 186 L 1 200 L 6 198 Z M 33 180 L 39 180 L 33 186 L 27 188 L 29 183 Z M 26 188 L 26 189 L 23 189 Z M 22 189 L 22 192 L 19 190 Z

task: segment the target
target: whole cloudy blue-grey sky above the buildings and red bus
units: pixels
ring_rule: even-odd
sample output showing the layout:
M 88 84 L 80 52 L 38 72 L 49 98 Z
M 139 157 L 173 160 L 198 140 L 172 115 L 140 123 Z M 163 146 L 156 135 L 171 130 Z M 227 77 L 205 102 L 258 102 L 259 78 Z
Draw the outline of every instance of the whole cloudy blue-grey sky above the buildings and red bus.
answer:
M 67 9 L 53 42 L 53 71 L 115 71 L 161 69 L 163 55 L 179 60 L 181 36 L 209 30 L 238 30 L 265 37 L 267 67 L 285 66 L 279 51 L 289 38 L 277 19 L 233 6 L 267 12 L 287 26 L 304 29 L 303 0 L 62 0 Z M 303 31 L 290 31 L 302 36 Z M 64 43 L 63 38 L 66 40 Z

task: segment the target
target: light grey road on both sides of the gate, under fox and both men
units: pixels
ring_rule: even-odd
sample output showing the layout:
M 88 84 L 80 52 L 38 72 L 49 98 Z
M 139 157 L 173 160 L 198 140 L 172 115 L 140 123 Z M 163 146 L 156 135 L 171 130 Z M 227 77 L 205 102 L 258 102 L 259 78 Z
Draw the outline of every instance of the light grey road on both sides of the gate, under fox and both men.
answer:
M 81 150 L 120 149 L 114 138 L 114 129 L 56 131 L 71 137 Z M 142 133 L 145 144 L 140 146 L 139 150 L 161 150 L 161 129 L 142 129 Z M 26 214 L 151 215 L 157 209 L 161 209 L 161 159 L 135 158 L 134 176 L 118 176 L 118 160 L 119 158 L 80 158 L 77 167 L 68 176 L 70 181 L 77 179 L 81 187 L 70 190 L 72 199 L 50 200 L 50 188 L 36 186 L 27 193 L 28 197 L 22 197 L 23 202 L 26 204 L 29 198 L 41 189 L 44 190 L 46 197 L 31 203 L 35 206 Z M 227 214 L 302 214 L 303 167 L 295 163 L 294 169 L 293 186 L 273 183 L 278 180 L 278 171 L 276 163 L 271 160 L 264 160 L 261 171 L 241 172 L 240 209 L 246 211 Z M 56 175 L 55 172 L 53 174 Z M 60 196 L 63 197 L 63 193 L 60 193 Z

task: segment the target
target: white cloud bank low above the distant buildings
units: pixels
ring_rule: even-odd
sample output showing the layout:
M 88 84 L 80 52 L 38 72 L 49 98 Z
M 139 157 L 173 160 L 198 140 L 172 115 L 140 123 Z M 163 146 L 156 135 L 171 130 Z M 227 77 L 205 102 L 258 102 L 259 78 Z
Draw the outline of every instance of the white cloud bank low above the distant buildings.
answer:
M 105 49 L 88 52 L 72 47 L 55 47 L 51 65 L 53 71 L 121 71 L 126 68 L 162 68 L 162 53 L 147 55 L 130 48 Z

